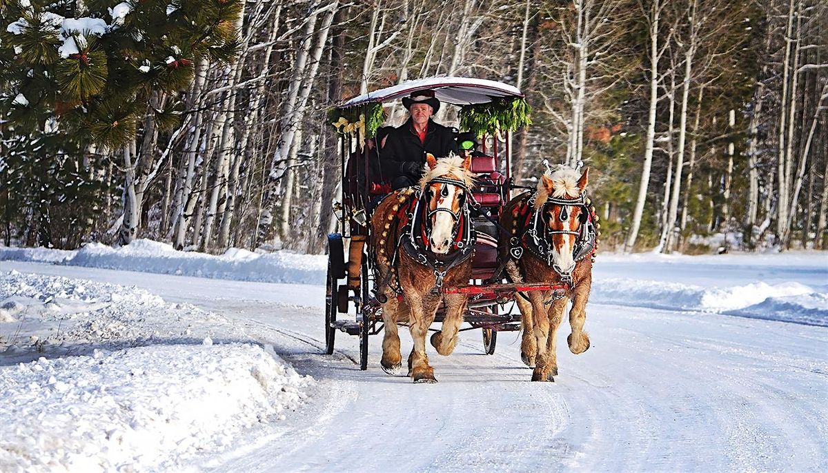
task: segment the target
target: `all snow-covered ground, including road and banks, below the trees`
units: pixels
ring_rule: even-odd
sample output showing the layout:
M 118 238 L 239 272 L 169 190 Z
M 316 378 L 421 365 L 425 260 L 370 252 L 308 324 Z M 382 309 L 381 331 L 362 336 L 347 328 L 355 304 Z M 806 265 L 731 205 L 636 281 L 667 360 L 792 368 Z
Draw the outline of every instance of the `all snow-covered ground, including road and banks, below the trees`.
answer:
M 385 375 L 379 337 L 368 371 L 355 337 L 321 355 L 324 269 L 0 248 L 0 471 L 828 470 L 826 253 L 599 255 L 554 384 L 514 332 L 463 332 L 437 385 Z

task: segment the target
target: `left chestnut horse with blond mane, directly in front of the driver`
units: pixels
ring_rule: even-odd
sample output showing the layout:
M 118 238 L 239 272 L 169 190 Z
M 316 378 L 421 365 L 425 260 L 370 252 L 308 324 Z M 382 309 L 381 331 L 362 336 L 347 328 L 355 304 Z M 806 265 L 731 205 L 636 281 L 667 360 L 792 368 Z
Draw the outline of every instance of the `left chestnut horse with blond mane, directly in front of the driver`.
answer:
M 426 355 L 426 333 L 440 301 L 445 301 L 445 320 L 442 331 L 431 337 L 440 355 L 454 351 L 463 323 L 468 296 L 440 294 L 440 289 L 469 284 L 471 276 L 470 166 L 470 158 L 427 155 L 420 185 L 389 194 L 371 217 L 370 248 L 385 330 L 380 364 L 389 374 L 402 367 L 397 322 L 408 322 L 414 339 L 408 375 L 415 383 L 437 381 Z

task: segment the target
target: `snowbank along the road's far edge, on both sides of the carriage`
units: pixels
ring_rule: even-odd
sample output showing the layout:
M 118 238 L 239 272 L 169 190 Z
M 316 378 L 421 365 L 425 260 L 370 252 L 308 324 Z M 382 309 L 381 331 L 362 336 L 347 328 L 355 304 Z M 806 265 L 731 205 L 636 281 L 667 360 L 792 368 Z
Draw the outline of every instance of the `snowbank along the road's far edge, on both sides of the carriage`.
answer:
M 223 256 L 137 240 L 79 251 L 0 248 L 0 260 L 54 261 L 113 270 L 274 283 L 325 284 L 326 256 L 232 249 Z M 638 307 L 728 313 L 828 326 L 828 253 L 709 256 L 600 254 L 590 300 Z M 2 313 L 0 313 L 2 317 Z

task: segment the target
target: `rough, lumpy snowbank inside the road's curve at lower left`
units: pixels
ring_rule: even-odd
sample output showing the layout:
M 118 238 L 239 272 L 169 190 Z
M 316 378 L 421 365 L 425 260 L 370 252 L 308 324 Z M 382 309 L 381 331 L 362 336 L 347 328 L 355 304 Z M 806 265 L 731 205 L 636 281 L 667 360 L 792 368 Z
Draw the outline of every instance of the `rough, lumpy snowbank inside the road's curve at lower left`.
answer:
M 228 319 L 142 289 L 12 271 L 0 307 L 3 472 L 180 471 L 313 383 Z

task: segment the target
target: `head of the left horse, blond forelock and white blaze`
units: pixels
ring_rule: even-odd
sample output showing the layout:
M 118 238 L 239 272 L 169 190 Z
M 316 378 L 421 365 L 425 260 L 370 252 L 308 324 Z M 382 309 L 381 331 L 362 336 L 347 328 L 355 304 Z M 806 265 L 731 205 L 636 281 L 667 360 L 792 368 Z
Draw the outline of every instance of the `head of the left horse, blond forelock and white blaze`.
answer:
M 422 198 L 427 203 L 426 237 L 432 252 L 448 254 L 460 232 L 466 198 L 474 185 L 471 158 L 451 154 L 435 159 L 426 155 L 426 173 L 420 179 Z

